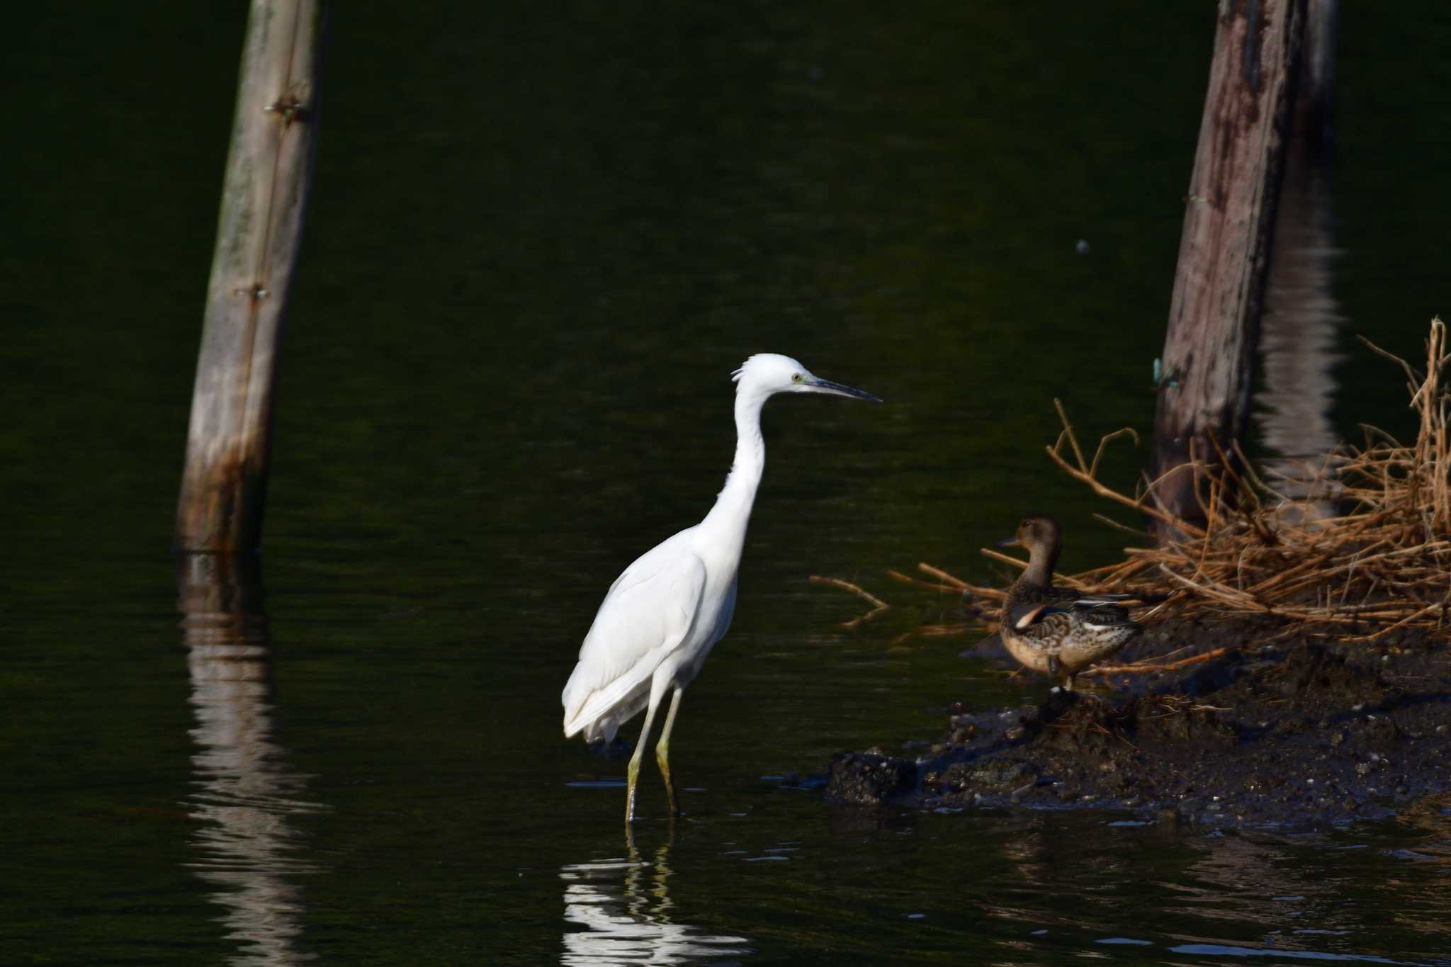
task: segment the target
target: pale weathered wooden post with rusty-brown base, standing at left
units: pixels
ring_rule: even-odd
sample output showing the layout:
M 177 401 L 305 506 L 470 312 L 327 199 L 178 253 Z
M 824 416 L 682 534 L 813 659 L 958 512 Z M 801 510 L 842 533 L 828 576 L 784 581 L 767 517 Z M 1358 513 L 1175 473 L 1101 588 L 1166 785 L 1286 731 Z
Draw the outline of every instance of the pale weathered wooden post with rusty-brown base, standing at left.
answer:
M 174 545 L 261 539 L 277 344 L 318 117 L 321 0 L 252 0 L 192 393 Z

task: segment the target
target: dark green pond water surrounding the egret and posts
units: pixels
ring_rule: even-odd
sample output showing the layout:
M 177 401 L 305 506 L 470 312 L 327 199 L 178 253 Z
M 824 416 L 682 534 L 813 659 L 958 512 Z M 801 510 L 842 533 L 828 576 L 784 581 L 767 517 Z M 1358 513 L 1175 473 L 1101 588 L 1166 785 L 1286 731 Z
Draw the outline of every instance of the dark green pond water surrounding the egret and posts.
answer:
M 1068 568 L 1120 545 L 1042 445 L 1053 396 L 1087 438 L 1149 422 L 1201 6 L 337 9 L 245 628 L 183 622 L 167 554 L 242 13 L 12 14 L 0 961 L 1444 963 L 1436 803 L 1210 838 L 779 779 L 1037 687 L 894 645 L 950 610 L 885 568 L 994 580 L 977 548 L 1032 509 Z M 1351 333 L 1415 355 L 1451 304 L 1451 23 L 1347 7 L 1319 371 L 1332 426 L 1399 429 Z M 688 816 L 647 768 L 628 844 L 559 690 L 618 570 L 710 506 L 757 351 L 888 404 L 768 407 Z M 843 632 L 813 573 L 895 607 Z

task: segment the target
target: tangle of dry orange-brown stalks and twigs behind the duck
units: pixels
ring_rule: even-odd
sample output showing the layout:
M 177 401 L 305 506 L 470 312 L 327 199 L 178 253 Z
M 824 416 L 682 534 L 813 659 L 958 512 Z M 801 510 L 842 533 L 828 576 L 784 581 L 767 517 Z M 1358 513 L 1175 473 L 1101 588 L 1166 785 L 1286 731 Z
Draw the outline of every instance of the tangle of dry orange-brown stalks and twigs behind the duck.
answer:
M 1365 426 L 1362 445 L 1328 454 L 1303 473 L 1257 470 L 1238 447 L 1225 452 L 1214 444 L 1216 452 L 1196 454 L 1191 464 L 1201 494 L 1199 523 L 1155 506 L 1152 481 L 1142 480 L 1133 494 L 1103 483 L 1098 462 L 1104 448 L 1133 431 L 1109 433 L 1093 460 L 1085 460 L 1058 404 L 1064 429 L 1046 448 L 1049 458 L 1098 496 L 1177 534 L 1154 547 L 1125 548 L 1119 563 L 1058 580 L 1085 592 L 1170 594 L 1164 605 L 1170 613 L 1265 615 L 1297 629 L 1316 625 L 1344 641 L 1373 641 L 1399 628 L 1451 636 L 1451 391 L 1441 384 L 1451 361 L 1445 323 L 1431 322 L 1423 371 L 1361 341 L 1405 371 L 1410 407 L 1419 415 L 1415 444 Z M 1145 536 L 1139 528 L 1096 516 Z M 988 548 L 982 554 L 1024 564 Z M 934 580 L 888 573 L 959 592 L 985 615 L 998 610 L 1001 590 L 968 584 L 927 564 L 918 567 Z M 916 634 L 963 629 L 930 625 Z

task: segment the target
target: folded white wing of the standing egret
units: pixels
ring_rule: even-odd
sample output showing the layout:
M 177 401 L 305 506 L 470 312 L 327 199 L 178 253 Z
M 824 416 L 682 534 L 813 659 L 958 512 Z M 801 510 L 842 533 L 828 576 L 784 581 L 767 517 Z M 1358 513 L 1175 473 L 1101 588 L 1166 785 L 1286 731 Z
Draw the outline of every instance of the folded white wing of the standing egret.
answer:
M 615 578 L 560 696 L 566 736 L 649 687 L 656 667 L 695 623 L 704 589 L 705 564 L 689 547 L 689 531 L 647 551 Z

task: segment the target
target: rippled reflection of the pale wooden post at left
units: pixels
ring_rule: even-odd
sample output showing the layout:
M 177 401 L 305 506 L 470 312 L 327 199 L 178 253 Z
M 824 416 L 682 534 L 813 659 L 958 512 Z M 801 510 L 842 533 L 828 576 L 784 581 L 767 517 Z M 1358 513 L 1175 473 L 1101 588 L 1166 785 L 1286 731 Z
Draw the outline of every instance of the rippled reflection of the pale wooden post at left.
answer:
M 324 809 L 300 794 L 306 776 L 273 741 L 267 616 L 255 560 L 189 554 L 178 560 L 181 628 L 192 671 L 196 792 L 183 803 L 200 825 L 196 874 L 223 887 L 210 899 L 238 942 L 232 964 L 300 964 L 300 890 L 318 867 L 299 858 L 289 818 Z

